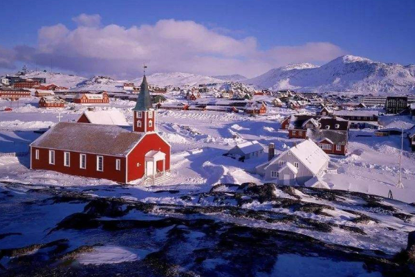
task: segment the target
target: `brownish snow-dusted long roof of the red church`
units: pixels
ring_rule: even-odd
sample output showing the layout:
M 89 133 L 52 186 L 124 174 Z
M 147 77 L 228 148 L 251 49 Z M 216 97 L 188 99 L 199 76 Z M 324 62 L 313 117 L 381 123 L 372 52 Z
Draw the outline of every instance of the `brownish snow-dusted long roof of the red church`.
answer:
M 61 122 L 31 145 L 39 148 L 124 156 L 140 138 L 140 134 L 116 125 Z

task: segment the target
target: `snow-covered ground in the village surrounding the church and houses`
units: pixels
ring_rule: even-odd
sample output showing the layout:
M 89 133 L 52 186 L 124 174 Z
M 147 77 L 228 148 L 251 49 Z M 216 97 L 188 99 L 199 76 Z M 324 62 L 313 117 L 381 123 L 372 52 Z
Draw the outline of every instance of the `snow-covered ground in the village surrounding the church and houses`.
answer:
M 170 93 L 168 93 L 170 94 Z M 172 96 L 173 98 L 175 96 Z M 0 106 L 12 103 L 13 111 L 1 112 L 0 152 L 20 151 L 37 134 L 34 129 L 47 128 L 57 123 L 59 113 L 61 120 L 76 120 L 86 107 L 69 104 L 64 109 L 38 109 L 37 98 L 20 100 L 17 103 L 0 100 Z M 97 109 L 117 109 L 132 122 L 131 107 L 134 102 L 113 100 L 110 107 Z M 304 110 L 304 112 L 307 112 Z M 293 111 L 284 108 L 268 107 L 264 116 L 250 117 L 244 114 L 230 114 L 215 111 L 165 111 L 158 112 L 157 128 L 160 134 L 172 144 L 172 178 L 165 186 L 194 186 L 210 188 L 218 183 L 241 184 L 244 181 L 261 182 L 257 175 L 248 173 L 250 169 L 264 162 L 266 154 L 259 159 L 241 163 L 223 157 L 227 150 L 236 143 L 257 140 L 267 146 L 275 143 L 277 152 L 285 150 L 296 142 L 289 140 L 285 131 L 279 130 L 279 122 Z M 385 127 L 411 127 L 413 122 L 407 116 L 382 116 Z M 351 131 L 349 151 L 345 157 L 331 156 L 331 161 L 338 165 L 338 174 L 325 175 L 324 179 L 332 188 L 359 191 L 387 197 L 389 190 L 395 199 L 415 202 L 415 155 L 410 152 L 409 142 L 404 140 L 403 175 L 405 189 L 395 188 L 398 181 L 398 160 L 400 137 L 374 136 L 372 130 Z M 203 149 L 194 153 L 190 150 Z M 3 176 L 20 181 L 37 181 L 37 172 L 28 170 L 27 157 L 19 160 L 1 157 L 0 167 Z M 23 161 L 23 163 L 22 163 Z M 14 166 L 11 166 L 15 164 Z M 10 171 L 10 167 L 13 170 Z M 15 174 L 12 174 L 15 172 Z M 66 179 L 54 172 L 42 172 L 42 182 L 59 183 Z M 70 177 L 69 179 L 76 179 Z M 82 181 L 81 181 L 82 182 Z M 93 181 L 95 182 L 95 181 Z M 102 184 L 104 181 L 99 181 Z

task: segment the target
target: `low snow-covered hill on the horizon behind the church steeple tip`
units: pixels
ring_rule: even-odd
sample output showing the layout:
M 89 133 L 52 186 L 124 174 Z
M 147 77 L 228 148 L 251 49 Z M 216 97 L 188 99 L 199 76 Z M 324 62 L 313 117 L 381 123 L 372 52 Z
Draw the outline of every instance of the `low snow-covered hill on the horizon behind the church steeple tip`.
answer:
M 141 84 L 142 77 L 131 80 L 134 84 Z M 175 87 L 183 86 L 195 86 L 197 84 L 210 84 L 210 83 L 222 83 L 224 80 L 219 80 L 204 75 L 196 75 L 190 73 L 154 73 L 147 76 L 147 81 L 149 84 L 155 84 L 158 86 L 168 86 L 172 85 Z

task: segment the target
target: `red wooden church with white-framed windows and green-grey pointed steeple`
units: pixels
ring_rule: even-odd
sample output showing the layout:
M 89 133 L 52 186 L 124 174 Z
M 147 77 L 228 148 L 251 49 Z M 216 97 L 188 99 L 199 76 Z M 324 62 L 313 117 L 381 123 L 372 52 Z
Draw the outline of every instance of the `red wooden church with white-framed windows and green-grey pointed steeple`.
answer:
M 144 76 L 133 130 L 117 125 L 57 123 L 30 144 L 30 168 L 128 183 L 170 168 L 171 145 L 156 132 Z

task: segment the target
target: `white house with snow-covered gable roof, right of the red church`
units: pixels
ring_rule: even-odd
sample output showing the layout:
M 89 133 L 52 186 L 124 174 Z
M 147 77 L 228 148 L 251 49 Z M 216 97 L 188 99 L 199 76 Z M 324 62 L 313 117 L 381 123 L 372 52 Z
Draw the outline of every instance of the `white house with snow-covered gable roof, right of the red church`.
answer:
M 306 139 L 255 169 L 257 174 L 264 176 L 264 181 L 304 186 L 313 177 L 324 175 L 328 165 L 329 156 L 313 141 Z

